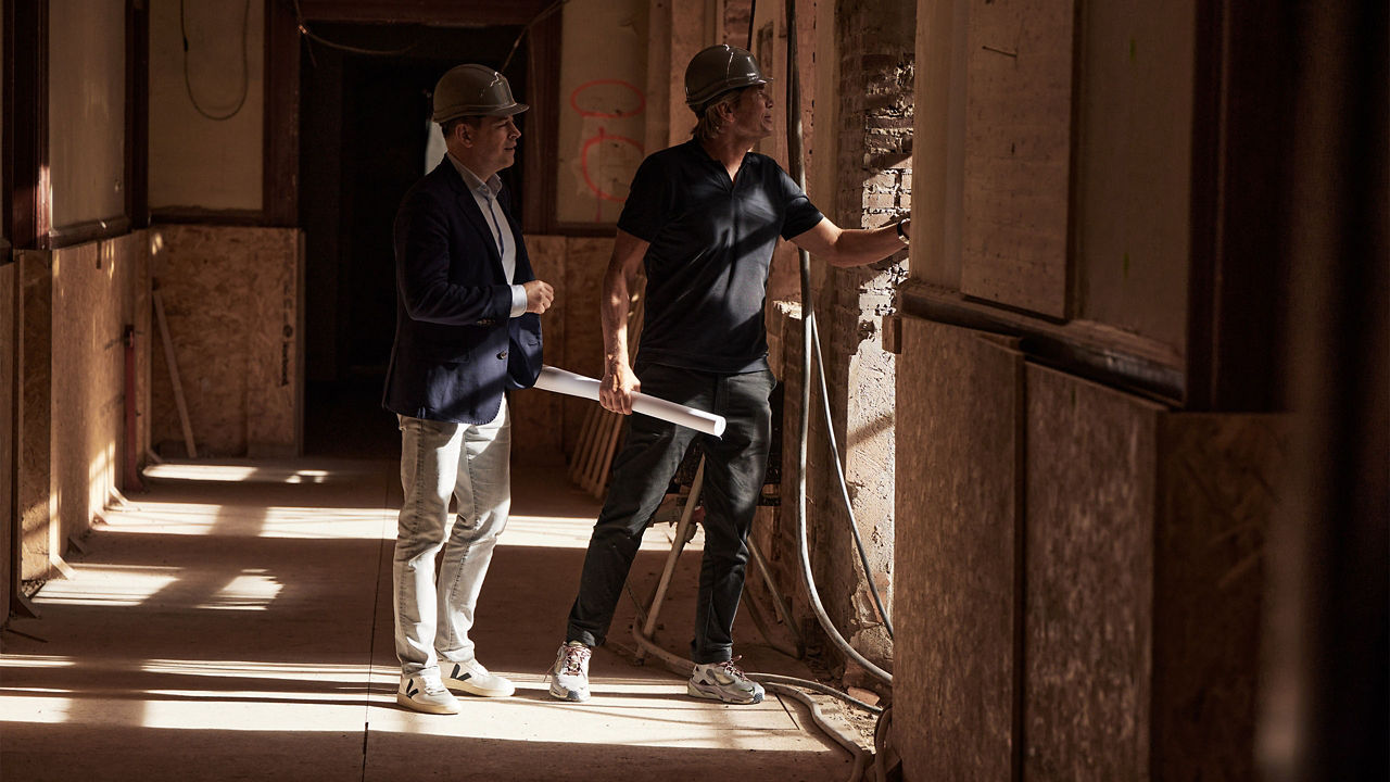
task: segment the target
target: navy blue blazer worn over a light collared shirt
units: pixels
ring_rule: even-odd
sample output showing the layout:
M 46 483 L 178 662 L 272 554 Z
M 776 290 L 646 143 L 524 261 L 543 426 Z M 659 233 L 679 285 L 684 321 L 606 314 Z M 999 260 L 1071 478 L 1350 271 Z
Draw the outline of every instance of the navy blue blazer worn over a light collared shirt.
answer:
M 535 280 L 517 244 L 516 284 Z M 396 340 L 382 406 L 403 416 L 478 424 L 496 417 L 502 394 L 541 374 L 541 317 L 512 314 L 502 255 L 463 177 L 445 157 L 400 202 L 395 225 Z

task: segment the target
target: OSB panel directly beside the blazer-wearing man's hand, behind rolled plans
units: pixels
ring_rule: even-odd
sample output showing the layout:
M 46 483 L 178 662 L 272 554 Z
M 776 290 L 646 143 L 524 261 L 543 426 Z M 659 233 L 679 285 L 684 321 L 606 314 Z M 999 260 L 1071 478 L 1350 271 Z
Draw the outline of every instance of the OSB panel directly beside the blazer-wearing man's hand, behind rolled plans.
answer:
M 525 248 L 537 280 L 555 288 L 555 302 L 541 316 L 545 363 L 564 366 L 564 313 L 571 306 L 564 289 L 564 237 L 527 237 Z M 512 458 L 525 463 L 562 463 L 564 398 L 528 388 L 512 394 Z

